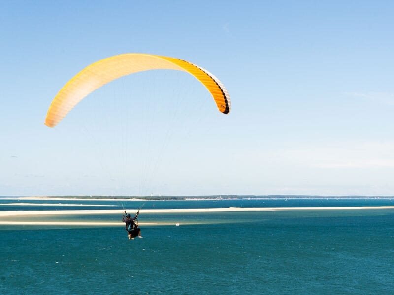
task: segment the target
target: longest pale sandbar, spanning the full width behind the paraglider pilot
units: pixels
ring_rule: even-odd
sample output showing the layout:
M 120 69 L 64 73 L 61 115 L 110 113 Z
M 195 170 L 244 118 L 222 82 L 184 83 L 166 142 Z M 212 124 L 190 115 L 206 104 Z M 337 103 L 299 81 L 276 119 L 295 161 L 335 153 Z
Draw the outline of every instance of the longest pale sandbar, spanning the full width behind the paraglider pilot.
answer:
M 157 210 L 140 210 L 141 214 L 149 213 L 207 213 L 207 212 L 258 212 L 258 211 L 300 211 L 300 210 L 372 210 L 372 209 L 394 209 L 394 206 L 365 206 L 365 207 L 277 207 L 277 208 L 208 208 L 208 209 L 157 209 Z M 48 210 L 48 211 L 0 211 L 1 216 L 16 215 L 106 215 L 119 214 L 119 210 Z M 134 213 L 134 212 L 132 212 Z

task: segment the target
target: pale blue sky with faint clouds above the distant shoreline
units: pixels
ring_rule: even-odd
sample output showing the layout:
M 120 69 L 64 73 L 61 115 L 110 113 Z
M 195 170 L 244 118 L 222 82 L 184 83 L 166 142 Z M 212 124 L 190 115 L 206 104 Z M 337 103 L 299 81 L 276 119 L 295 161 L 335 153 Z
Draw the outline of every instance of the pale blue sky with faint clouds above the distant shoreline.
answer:
M 82 2 L 82 3 L 81 3 Z M 1 1 L 0 195 L 394 195 L 392 1 Z M 191 61 L 89 95 L 121 53 Z

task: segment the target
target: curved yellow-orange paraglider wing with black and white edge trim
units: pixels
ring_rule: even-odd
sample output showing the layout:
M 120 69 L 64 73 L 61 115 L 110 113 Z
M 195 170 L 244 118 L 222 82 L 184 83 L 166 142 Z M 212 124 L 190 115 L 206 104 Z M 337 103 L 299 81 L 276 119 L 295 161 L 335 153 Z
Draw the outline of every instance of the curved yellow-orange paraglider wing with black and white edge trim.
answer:
M 104 84 L 125 75 L 156 69 L 190 73 L 212 94 L 220 112 L 230 112 L 230 96 L 226 88 L 203 68 L 181 59 L 129 53 L 101 59 L 75 75 L 53 99 L 45 118 L 45 125 L 55 127 L 78 102 Z

